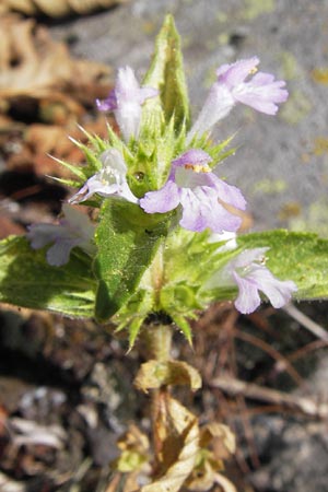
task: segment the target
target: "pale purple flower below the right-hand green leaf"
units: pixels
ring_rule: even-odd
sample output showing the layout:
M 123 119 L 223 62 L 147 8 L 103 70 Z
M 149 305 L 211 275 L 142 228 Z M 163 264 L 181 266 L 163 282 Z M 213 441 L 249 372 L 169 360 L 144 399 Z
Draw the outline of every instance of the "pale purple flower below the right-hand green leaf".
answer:
M 265 266 L 268 249 L 270 248 L 245 249 L 222 271 L 215 273 L 207 288 L 237 285 L 239 292 L 234 304 L 243 314 L 253 313 L 260 305 L 259 291 L 273 307 L 284 306 L 297 288 L 291 280 L 277 279 Z

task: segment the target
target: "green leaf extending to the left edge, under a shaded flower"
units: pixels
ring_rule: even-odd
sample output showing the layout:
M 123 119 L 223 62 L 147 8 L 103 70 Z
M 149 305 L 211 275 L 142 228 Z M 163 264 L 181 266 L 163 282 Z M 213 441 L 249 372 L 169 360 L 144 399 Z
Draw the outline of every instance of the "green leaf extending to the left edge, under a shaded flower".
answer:
M 25 237 L 0 242 L 0 301 L 67 316 L 93 316 L 96 282 L 91 258 L 75 248 L 62 267 L 47 263 L 45 250 L 31 248 Z

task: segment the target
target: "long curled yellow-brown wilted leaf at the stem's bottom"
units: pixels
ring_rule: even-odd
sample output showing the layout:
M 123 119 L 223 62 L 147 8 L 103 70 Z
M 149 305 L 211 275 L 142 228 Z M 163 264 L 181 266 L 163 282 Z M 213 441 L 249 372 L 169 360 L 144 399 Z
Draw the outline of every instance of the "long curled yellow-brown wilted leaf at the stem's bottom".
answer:
M 161 476 L 140 492 L 178 492 L 194 469 L 199 449 L 196 417 L 167 394 L 160 407 L 155 425 L 163 444 Z

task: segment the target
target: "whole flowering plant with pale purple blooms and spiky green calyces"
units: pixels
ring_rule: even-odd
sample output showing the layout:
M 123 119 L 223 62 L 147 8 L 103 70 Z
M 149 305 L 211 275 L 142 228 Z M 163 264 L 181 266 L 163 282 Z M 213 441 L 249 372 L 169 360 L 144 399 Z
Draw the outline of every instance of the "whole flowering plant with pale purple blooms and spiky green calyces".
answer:
M 232 301 L 248 314 L 261 301 L 281 307 L 292 298 L 327 297 L 327 241 L 288 231 L 238 234 L 237 212 L 246 200 L 221 172 L 234 153 L 232 139 L 213 143 L 210 134 L 238 104 L 274 115 L 286 101 L 285 83 L 257 71 L 258 65 L 253 57 L 220 67 L 190 125 L 179 37 L 167 16 L 142 84 L 131 68 L 121 68 L 115 89 L 96 102 L 99 110 L 115 114 L 120 134 L 108 127 L 104 141 L 82 129 L 90 145 L 75 144 L 85 164 L 60 162 L 73 175 L 60 180 L 75 192 L 59 223 L 32 225 L 26 237 L 1 243 L 0 301 L 110 320 L 117 330 L 127 330 L 132 347 L 140 332 L 153 330 L 155 339 L 159 326 L 162 335 L 177 326 L 191 343 L 188 320 L 214 301 Z M 95 209 L 97 218 L 92 223 L 75 206 Z M 152 358 L 147 374 L 156 380 L 150 384 L 142 373 L 137 378 L 141 389 L 174 384 L 177 372 L 179 380 L 187 372 L 191 388 L 199 387 L 191 368 L 173 363 L 163 348 Z M 162 376 L 155 377 L 159 361 Z M 172 415 L 178 403 L 167 398 Z M 201 438 L 190 412 L 178 410 L 189 425 L 183 454 Z M 186 452 L 190 462 L 168 489 L 159 483 L 176 471 L 165 469 L 165 457 L 157 456 L 160 481 L 142 490 L 179 490 L 196 466 L 196 450 Z

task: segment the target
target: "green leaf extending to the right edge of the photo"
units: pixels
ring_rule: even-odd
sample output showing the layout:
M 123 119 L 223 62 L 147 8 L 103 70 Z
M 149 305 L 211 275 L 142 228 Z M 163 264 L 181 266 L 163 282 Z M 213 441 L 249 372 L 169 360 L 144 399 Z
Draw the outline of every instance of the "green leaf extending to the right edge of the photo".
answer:
M 243 249 L 269 247 L 267 267 L 281 280 L 297 285 L 294 297 L 314 300 L 328 297 L 328 241 L 316 234 L 272 231 L 242 235 Z

